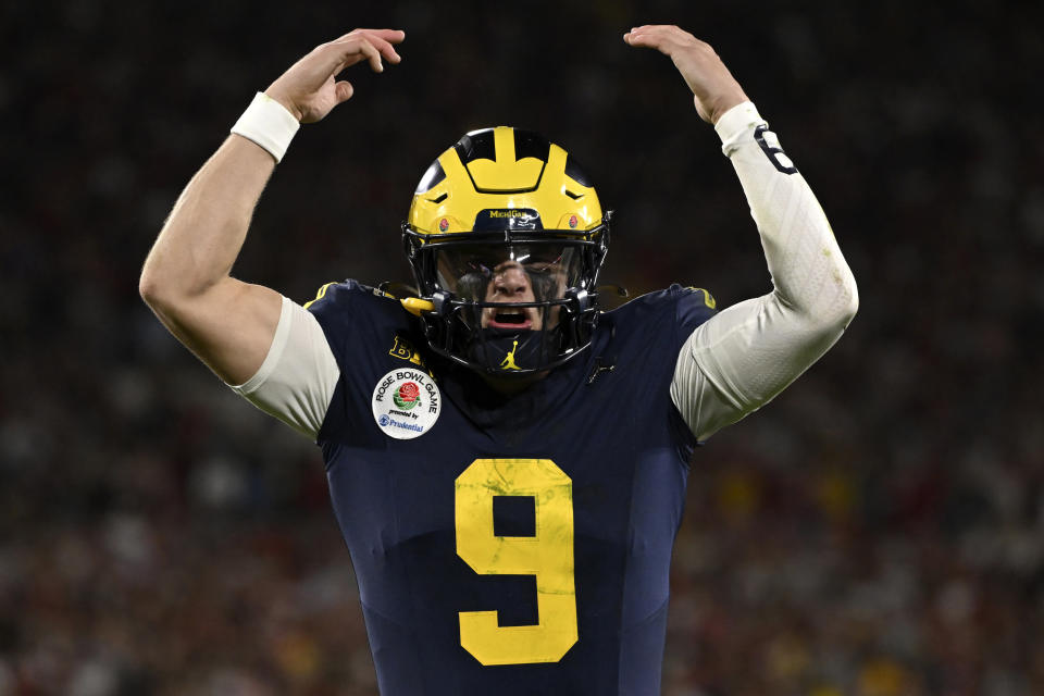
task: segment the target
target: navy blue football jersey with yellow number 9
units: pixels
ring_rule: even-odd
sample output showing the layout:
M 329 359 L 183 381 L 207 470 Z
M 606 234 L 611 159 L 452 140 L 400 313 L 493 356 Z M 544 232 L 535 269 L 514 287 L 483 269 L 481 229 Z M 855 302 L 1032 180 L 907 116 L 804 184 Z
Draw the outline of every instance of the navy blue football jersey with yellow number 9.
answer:
M 695 439 L 670 397 L 700 290 L 599 319 L 519 395 L 424 350 L 353 282 L 309 309 L 340 368 L 319 433 L 384 696 L 660 689 Z

